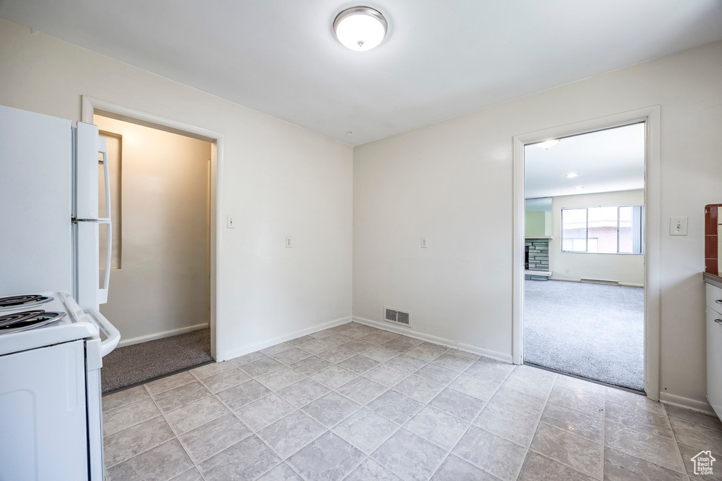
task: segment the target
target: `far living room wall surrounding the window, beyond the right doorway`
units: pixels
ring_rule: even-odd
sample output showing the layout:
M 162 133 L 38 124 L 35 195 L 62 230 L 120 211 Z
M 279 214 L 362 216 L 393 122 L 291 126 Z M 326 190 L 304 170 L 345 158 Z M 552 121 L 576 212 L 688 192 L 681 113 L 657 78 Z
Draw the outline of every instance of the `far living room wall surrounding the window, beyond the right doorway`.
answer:
M 644 286 L 644 256 L 562 252 L 562 208 L 596 206 L 643 206 L 644 190 L 599 194 L 561 195 L 552 198 L 552 240 L 549 270 L 554 279 L 601 279 Z M 566 271 L 569 270 L 567 273 Z

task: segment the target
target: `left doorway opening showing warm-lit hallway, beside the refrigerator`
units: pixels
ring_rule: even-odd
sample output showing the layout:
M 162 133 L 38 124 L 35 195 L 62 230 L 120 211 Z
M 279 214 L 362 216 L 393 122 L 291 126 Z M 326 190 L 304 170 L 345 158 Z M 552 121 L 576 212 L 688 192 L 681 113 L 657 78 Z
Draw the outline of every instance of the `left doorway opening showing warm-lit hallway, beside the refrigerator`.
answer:
M 212 138 L 112 112 L 95 110 L 92 123 L 108 144 L 113 214 L 109 266 L 99 253 L 100 265 L 111 270 L 100 311 L 121 332 L 118 348 L 103 360 L 107 393 L 214 361 L 214 145 Z M 101 182 L 103 201 L 104 190 Z

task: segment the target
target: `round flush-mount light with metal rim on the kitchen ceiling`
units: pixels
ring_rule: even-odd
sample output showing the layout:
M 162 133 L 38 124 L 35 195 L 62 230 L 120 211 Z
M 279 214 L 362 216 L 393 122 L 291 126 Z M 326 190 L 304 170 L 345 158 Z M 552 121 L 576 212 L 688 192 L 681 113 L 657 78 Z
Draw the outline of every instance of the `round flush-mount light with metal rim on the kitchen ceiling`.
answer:
M 334 20 L 334 33 L 345 47 L 365 52 L 383 42 L 388 23 L 378 10 L 370 6 L 352 6 Z

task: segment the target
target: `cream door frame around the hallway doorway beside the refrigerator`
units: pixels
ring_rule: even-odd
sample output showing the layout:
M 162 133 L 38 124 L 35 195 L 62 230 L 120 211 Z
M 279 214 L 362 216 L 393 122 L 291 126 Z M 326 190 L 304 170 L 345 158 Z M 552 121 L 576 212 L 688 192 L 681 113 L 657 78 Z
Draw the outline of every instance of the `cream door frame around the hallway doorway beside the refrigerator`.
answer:
M 181 135 L 190 134 L 191 137 L 201 138 L 201 140 L 211 143 L 211 242 L 210 242 L 210 296 L 211 296 L 211 356 L 216 361 L 225 360 L 225 346 L 223 345 L 223 335 L 225 322 L 223 318 L 222 296 L 217 293 L 222 292 L 222 173 L 223 173 L 223 134 L 219 132 L 209 131 L 206 128 L 197 127 L 183 122 L 178 122 L 170 118 L 160 117 L 158 115 L 149 114 L 140 110 L 130 109 L 122 105 L 106 102 L 105 100 L 82 96 L 81 121 L 85 123 L 93 123 L 93 115 L 95 111 L 109 112 L 111 114 L 121 115 L 129 118 L 130 121 L 139 120 L 143 125 L 150 123 L 167 127 L 169 131 L 175 131 Z M 152 126 L 152 125 L 151 125 Z

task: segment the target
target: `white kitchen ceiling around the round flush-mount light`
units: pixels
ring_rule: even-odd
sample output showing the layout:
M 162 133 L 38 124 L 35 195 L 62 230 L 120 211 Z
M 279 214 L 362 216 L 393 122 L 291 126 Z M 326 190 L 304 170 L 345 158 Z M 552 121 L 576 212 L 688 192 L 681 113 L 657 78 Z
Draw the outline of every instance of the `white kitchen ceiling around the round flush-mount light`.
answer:
M 349 145 L 722 39 L 719 0 L 0 0 L 0 17 Z M 347 132 L 352 131 L 352 135 Z

